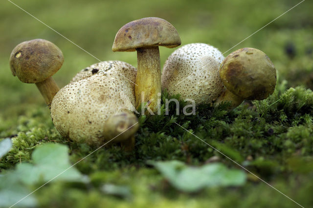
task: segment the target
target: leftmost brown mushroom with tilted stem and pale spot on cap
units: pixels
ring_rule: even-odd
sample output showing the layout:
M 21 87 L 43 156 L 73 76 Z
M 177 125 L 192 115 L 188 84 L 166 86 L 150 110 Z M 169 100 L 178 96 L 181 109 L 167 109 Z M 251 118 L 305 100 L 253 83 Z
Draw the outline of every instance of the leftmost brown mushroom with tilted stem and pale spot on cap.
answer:
M 52 76 L 61 68 L 64 58 L 62 51 L 52 42 L 35 39 L 18 44 L 10 56 L 13 76 L 23 83 L 36 83 L 49 106 L 59 91 Z

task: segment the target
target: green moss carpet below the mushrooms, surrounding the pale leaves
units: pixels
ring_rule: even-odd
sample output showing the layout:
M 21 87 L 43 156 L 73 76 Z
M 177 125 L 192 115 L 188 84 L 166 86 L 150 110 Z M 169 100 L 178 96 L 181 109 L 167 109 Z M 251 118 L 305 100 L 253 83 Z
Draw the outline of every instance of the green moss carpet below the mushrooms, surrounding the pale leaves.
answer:
M 217 108 L 202 105 L 197 108 L 196 115 L 176 115 L 173 103 L 169 105 L 169 115 L 166 116 L 163 104 L 161 115 L 139 117 L 141 128 L 136 134 L 133 152 L 127 153 L 120 146 L 111 145 L 99 149 L 76 165 L 81 172 L 89 175 L 93 187 L 86 189 L 56 183 L 44 187 L 37 197 L 43 206 L 54 204 L 59 206 L 61 203 L 75 206 L 78 198 L 84 199 L 84 206 L 93 206 L 97 203 L 114 205 L 120 199 L 117 200 L 115 196 L 99 192 L 99 188 L 103 184 L 115 184 L 130 187 L 134 196 L 131 202 L 124 199 L 120 205 L 144 207 L 154 199 L 162 199 L 162 203 L 167 206 L 173 205 L 173 202 L 183 205 L 190 195 L 179 193 L 170 187 L 154 169 L 147 166 L 147 160 L 176 159 L 191 165 L 201 165 L 210 157 L 217 155 L 224 164 L 239 168 L 179 125 L 265 180 L 278 179 L 280 182 L 276 183 L 285 188 L 290 185 L 300 186 L 301 181 L 296 182 L 297 185 L 292 185 L 291 182 L 297 173 L 301 172 L 305 183 L 312 184 L 313 181 L 310 179 L 312 169 L 296 166 L 297 163 L 292 158 L 296 155 L 297 160 L 303 161 L 304 158 L 308 160 L 308 157 L 312 157 L 313 92 L 304 87 L 290 88 L 284 92 L 279 89 L 283 87 L 278 87 L 265 101 L 244 103 L 229 112 L 226 111 L 228 104 L 222 104 Z M 165 101 L 166 98 L 179 98 L 179 96 L 168 97 L 168 94 L 164 92 L 162 100 Z M 180 102 L 180 109 L 185 105 L 185 102 Z M 87 145 L 64 141 L 44 112 L 43 108 L 19 117 L 17 128 L 20 132 L 12 138 L 13 149 L 1 158 L 1 168 L 8 169 L 20 161 L 30 160 L 30 153 L 35 146 L 46 142 L 67 144 L 71 150 L 72 163 L 93 151 Z M 305 163 L 302 162 L 302 164 Z M 256 200 L 256 196 L 250 193 L 250 189 L 259 192 L 269 188 L 262 183 L 257 183 L 253 187 L 250 183 L 239 188 L 241 192 L 239 195 L 231 189 L 224 190 L 224 188 L 206 189 L 205 192 L 213 191 L 215 198 L 210 198 L 210 200 L 213 200 L 213 204 L 220 204 L 222 207 L 239 203 L 237 198 L 247 194 L 248 200 L 245 206 L 249 206 L 251 205 L 249 203 Z M 310 189 L 312 186 L 305 188 Z M 65 190 L 67 194 L 61 194 Z M 222 190 L 226 191 L 227 196 L 227 200 L 223 202 L 220 198 Z M 46 194 L 51 191 L 57 191 L 60 194 L 52 198 L 46 197 Z M 269 197 L 268 190 L 265 192 L 264 197 Z M 289 194 L 292 197 L 301 198 L 292 191 Z M 204 205 L 202 203 L 208 200 L 203 193 L 198 193 L 193 197 L 199 201 L 197 206 Z M 283 198 L 275 199 L 270 203 L 275 206 L 281 203 L 281 200 Z M 306 203 L 309 199 L 303 200 Z M 286 202 L 286 205 L 289 206 L 289 203 Z

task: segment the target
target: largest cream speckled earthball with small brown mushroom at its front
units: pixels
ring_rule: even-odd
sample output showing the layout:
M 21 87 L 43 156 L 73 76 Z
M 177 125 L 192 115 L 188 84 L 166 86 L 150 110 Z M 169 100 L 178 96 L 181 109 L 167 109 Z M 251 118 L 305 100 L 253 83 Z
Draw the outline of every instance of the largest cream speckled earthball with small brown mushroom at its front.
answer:
M 83 69 L 52 101 L 51 118 L 56 129 L 75 142 L 100 146 L 116 137 L 114 141 L 134 146 L 139 127 L 131 113 L 135 77 L 136 68 L 120 61 Z

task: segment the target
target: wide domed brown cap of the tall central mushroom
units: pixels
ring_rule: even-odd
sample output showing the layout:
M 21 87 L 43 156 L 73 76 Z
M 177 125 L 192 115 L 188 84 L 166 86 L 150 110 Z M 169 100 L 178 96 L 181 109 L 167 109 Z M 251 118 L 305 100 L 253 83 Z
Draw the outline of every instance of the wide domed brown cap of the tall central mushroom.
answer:
M 166 20 L 150 17 L 131 21 L 116 33 L 112 51 L 135 51 L 147 46 L 177 47 L 181 44 L 175 27 Z

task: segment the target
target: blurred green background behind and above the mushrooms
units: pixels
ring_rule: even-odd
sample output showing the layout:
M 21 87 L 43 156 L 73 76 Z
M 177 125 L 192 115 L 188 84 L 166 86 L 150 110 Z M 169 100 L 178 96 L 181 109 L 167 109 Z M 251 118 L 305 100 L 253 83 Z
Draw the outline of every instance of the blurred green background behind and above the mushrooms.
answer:
M 313 89 L 313 1 L 310 0 L 305 0 L 231 50 L 229 48 L 289 10 L 300 0 L 12 0 L 12 2 L 101 61 L 120 60 L 136 66 L 135 52 L 112 52 L 115 34 L 127 22 L 144 17 L 159 17 L 176 27 L 182 45 L 193 42 L 208 43 L 219 48 L 222 53 L 227 51 L 224 56 L 242 47 L 258 48 L 272 60 L 280 81 L 287 80 L 288 86 L 304 85 Z M 63 67 L 53 76 L 60 87 L 69 83 L 81 69 L 99 62 L 11 2 L 2 0 L 0 138 L 25 130 L 21 127 L 21 118 L 23 121 L 27 120 L 28 113 L 34 109 L 42 109 L 43 121 L 53 128 L 48 109 L 35 84 L 21 83 L 18 78 L 13 77 L 8 63 L 10 53 L 18 43 L 37 38 L 51 41 L 63 51 L 65 57 Z M 161 66 L 174 50 L 175 48 L 160 47 Z M 145 172 L 143 170 L 143 173 L 138 174 L 141 177 Z M 288 188 L 283 185 L 282 187 Z M 264 185 L 260 190 L 267 188 L 270 187 Z M 211 192 L 223 195 L 214 190 Z M 267 192 L 262 196 L 271 196 L 270 193 L 279 195 L 278 192 Z M 48 197 L 48 193 L 43 194 Z M 238 196 L 233 194 L 229 197 Z M 251 197 L 252 201 L 256 199 L 254 196 Z M 198 205 L 194 200 L 196 199 L 179 206 Z M 205 202 L 205 198 L 201 200 Z M 266 207 L 266 203 L 263 203 L 260 206 Z M 211 206 L 219 207 L 219 202 L 214 202 Z

